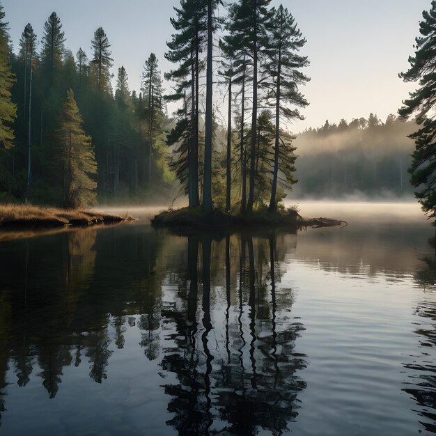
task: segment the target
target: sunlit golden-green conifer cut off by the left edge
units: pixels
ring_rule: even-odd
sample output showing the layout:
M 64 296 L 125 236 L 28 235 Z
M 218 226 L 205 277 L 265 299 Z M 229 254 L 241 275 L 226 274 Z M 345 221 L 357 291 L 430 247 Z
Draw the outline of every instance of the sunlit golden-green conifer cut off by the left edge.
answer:
M 10 148 L 15 137 L 12 123 L 17 114 L 17 107 L 11 101 L 10 88 L 15 82 L 15 76 L 10 70 L 8 23 L 4 18 L 5 13 L 0 4 L 0 145 Z

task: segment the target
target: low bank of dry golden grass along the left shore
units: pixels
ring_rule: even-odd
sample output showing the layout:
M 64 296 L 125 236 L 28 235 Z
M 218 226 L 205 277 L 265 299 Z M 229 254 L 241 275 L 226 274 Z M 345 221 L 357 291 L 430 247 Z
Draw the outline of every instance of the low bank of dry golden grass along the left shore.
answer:
M 0 230 L 116 224 L 131 219 L 127 216 L 118 217 L 117 215 L 93 210 L 68 210 L 34 205 L 0 204 Z

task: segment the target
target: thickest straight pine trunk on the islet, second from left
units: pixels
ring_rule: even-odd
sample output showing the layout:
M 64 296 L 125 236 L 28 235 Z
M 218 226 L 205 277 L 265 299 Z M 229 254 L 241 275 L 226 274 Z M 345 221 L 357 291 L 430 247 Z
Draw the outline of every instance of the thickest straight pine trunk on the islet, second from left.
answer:
M 203 210 L 212 212 L 212 0 L 208 0 L 208 61 L 203 178 Z

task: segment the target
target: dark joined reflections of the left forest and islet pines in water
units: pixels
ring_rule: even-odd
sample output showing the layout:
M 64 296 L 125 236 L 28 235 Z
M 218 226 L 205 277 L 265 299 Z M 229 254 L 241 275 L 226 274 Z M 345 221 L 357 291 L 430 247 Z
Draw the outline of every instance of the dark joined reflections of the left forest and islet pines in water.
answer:
M 167 424 L 181 435 L 280 434 L 297 416 L 305 384 L 295 372 L 306 363 L 294 352 L 302 325 L 289 318 L 293 292 L 276 287 L 286 251 L 276 238 L 286 236 L 178 238 L 133 227 L 4 245 L 0 424 L 10 384 L 37 380 L 56 400 L 80 367 L 109 389 L 113 356 L 136 346 L 178 380 L 164 392 Z

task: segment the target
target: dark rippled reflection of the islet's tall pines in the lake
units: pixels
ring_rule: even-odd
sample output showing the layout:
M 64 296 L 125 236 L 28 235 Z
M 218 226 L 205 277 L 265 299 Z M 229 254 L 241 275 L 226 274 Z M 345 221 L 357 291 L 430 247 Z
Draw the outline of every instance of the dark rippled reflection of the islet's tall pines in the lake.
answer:
M 306 384 L 296 371 L 305 368 L 306 359 L 294 352 L 303 327 L 288 319 L 292 290 L 281 289 L 284 304 L 277 302 L 276 235 L 201 238 L 201 313 L 198 240 L 188 238 L 187 316 L 183 309 L 164 314 L 174 323 L 169 338 L 175 346 L 162 367 L 178 380 L 164 386 L 175 415 L 167 424 L 180 435 L 255 435 L 261 428 L 280 435 L 297 417 L 297 394 Z M 214 270 L 221 263 L 225 273 L 211 277 L 211 265 Z M 214 280 L 217 286 L 211 286 Z M 180 277 L 179 289 L 183 282 Z

